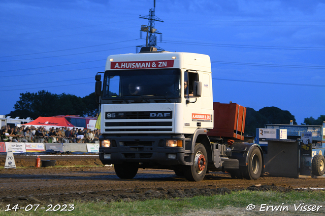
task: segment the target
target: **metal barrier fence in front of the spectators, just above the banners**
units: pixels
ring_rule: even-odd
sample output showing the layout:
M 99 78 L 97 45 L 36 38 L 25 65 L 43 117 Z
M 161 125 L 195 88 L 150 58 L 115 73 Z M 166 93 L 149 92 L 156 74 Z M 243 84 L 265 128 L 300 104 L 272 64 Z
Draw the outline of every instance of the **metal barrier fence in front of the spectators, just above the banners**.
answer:
M 18 143 L 99 143 L 98 138 L 72 138 L 72 137 L 9 137 L 8 140 L 1 142 L 18 142 Z

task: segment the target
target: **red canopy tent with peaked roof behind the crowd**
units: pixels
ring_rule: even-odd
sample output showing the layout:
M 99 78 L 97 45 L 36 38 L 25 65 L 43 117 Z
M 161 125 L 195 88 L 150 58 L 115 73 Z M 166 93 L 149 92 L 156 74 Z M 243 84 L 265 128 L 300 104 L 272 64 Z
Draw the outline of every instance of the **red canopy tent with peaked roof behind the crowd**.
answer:
M 66 118 L 64 117 L 38 117 L 34 121 L 31 121 L 26 124 L 21 124 L 26 126 L 35 126 L 40 127 L 43 126 L 46 129 L 51 127 L 70 127 L 73 128 L 74 125 L 71 124 Z

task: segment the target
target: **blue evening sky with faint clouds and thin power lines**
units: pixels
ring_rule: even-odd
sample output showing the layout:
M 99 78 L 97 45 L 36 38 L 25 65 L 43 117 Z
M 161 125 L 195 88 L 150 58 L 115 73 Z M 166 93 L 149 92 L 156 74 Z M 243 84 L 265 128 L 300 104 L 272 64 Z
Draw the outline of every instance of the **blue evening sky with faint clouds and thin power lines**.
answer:
M 20 93 L 94 92 L 107 56 L 145 44 L 139 16 L 151 8 L 153 0 L 2 0 L 0 114 Z M 156 0 L 164 22 L 155 28 L 166 51 L 211 57 L 215 102 L 275 106 L 300 124 L 325 114 L 324 14 L 325 1 Z

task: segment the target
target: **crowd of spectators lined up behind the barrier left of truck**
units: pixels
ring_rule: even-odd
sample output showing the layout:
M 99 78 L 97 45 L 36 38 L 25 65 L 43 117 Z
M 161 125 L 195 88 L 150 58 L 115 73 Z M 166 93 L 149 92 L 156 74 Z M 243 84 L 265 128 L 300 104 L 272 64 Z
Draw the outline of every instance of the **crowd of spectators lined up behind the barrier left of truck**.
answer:
M 23 143 L 96 143 L 101 136 L 99 129 L 81 129 L 73 127 L 44 127 L 5 125 L 1 127 L 0 142 Z

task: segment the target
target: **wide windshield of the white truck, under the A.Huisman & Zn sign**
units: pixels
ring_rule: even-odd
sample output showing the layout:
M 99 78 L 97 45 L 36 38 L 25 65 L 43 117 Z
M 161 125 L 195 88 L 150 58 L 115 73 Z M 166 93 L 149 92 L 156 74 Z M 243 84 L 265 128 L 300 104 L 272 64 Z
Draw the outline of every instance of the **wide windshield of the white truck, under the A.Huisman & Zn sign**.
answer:
M 180 69 L 109 70 L 105 72 L 103 97 L 181 96 Z

